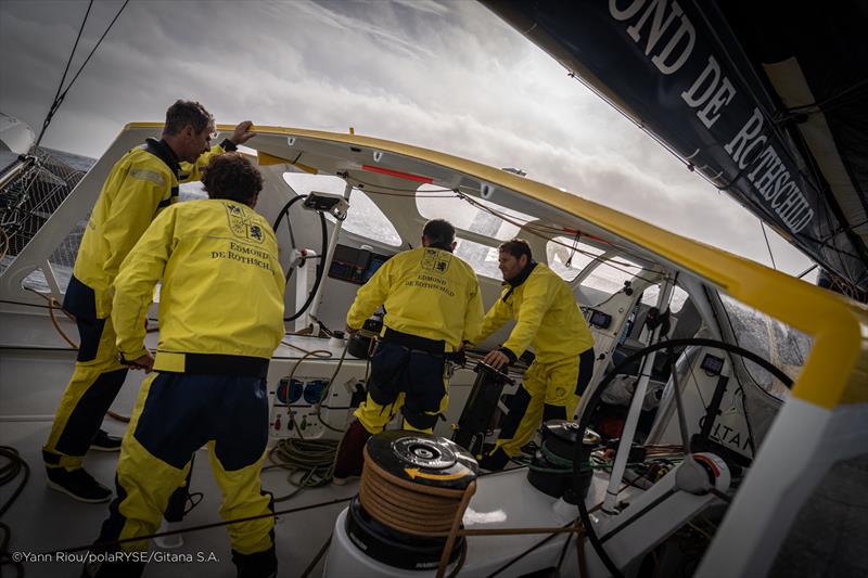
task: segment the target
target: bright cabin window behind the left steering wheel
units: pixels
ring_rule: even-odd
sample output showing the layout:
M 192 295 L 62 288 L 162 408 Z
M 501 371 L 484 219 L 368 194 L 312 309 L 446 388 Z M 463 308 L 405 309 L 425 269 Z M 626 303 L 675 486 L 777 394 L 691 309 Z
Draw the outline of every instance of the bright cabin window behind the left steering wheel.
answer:
M 340 177 L 327 175 L 308 175 L 306 172 L 284 172 L 283 180 L 296 194 L 306 195 L 310 191 L 322 193 L 344 194 L 346 182 Z M 332 223 L 336 219 L 326 215 Z M 343 224 L 343 230 L 363 239 L 398 247 L 401 244 L 400 235 L 388 220 L 388 217 L 378 207 L 371 197 L 358 189 L 353 189 L 349 194 L 349 211 Z

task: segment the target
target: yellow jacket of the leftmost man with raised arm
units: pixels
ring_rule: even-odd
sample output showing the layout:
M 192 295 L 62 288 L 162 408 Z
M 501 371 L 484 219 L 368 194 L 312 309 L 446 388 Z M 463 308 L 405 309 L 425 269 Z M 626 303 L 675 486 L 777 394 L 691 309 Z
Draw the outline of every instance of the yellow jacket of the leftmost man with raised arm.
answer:
M 129 251 L 154 217 L 178 200 L 179 182 L 202 179 L 202 168 L 229 141 L 215 145 L 194 164 L 179 163 L 165 143 L 148 139 L 115 163 L 90 215 L 73 274 L 93 290 L 97 317 L 112 310 L 112 282 Z M 75 313 L 75 311 L 73 311 Z

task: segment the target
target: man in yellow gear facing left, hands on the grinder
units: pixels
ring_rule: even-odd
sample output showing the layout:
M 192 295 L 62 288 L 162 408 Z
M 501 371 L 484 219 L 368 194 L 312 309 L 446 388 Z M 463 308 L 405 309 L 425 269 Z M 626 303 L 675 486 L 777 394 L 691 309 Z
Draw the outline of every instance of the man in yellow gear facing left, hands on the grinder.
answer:
M 510 402 L 494 450 L 481 463 L 486 470 L 502 470 L 521 452 L 540 420 L 571 419 L 593 373 L 593 336 L 570 285 L 533 260 L 526 241 L 513 239 L 499 248 L 505 287 L 472 342 L 482 342 L 514 319 L 509 338 L 483 361 L 500 369 L 515 362 L 528 347 L 535 358 Z

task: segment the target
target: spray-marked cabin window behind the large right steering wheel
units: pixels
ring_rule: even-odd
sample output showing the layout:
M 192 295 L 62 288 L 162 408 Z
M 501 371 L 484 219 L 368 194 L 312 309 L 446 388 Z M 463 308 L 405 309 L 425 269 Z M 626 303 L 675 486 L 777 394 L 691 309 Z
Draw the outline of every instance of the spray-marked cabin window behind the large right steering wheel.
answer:
M 766 358 L 795 381 L 814 345 L 813 339 L 731 297 L 720 295 L 720 299 L 738 345 Z M 778 399 L 789 395 L 783 384 L 753 361 L 744 360 L 744 367 L 751 380 L 768 394 Z

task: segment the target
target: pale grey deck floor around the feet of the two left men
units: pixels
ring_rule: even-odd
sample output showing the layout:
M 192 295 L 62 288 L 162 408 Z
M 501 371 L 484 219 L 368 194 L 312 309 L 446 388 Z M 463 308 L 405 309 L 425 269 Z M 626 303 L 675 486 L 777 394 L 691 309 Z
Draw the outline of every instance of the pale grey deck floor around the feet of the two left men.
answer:
M 105 421 L 106 429 L 122 433 L 124 424 L 112 420 Z M 46 486 L 46 473 L 40 455 L 49 422 L 0 422 L 0 440 L 18 449 L 22 457 L 30 464 L 30 480 L 24 492 L 3 522 L 12 528 L 13 552 L 50 553 L 56 550 L 86 545 L 92 542 L 100 530 L 102 522 L 108 514 L 107 503 L 86 504 Z M 86 468 L 100 481 L 114 488 L 114 471 L 117 452 L 91 451 L 86 460 Z M 214 483 L 207 454 L 200 451 L 193 471 L 192 490 L 202 491 L 205 497 L 184 518 L 182 526 L 195 526 L 219 522 L 219 489 Z M 281 471 L 263 473 L 263 486 L 276 494 L 285 494 L 291 487 Z M 14 485 L 0 489 L 0 502 L 5 501 Z M 343 488 L 329 486 L 309 489 L 289 501 L 277 504 L 278 511 L 352 497 L 357 491 L 357 484 L 348 484 Z M 334 519 L 345 504 L 308 510 L 292 515 L 280 516 L 277 521 L 276 542 L 280 558 L 280 576 L 298 576 L 322 543 L 329 537 Z M 184 545 L 169 550 L 173 553 L 190 553 L 194 558 L 201 553 L 205 558 L 212 553 L 217 563 L 171 563 L 162 562 L 148 566 L 144 576 L 157 577 L 234 577 L 235 568 L 231 563 L 229 538 L 224 528 L 212 528 L 197 532 L 184 534 Z M 322 563 L 320 562 L 320 567 Z M 4 569 L 4 573 L 11 568 Z M 78 576 L 78 563 L 28 563 L 25 564 L 28 578 Z M 314 573 L 319 575 L 321 570 Z M 12 576 L 12 574 L 10 574 Z

